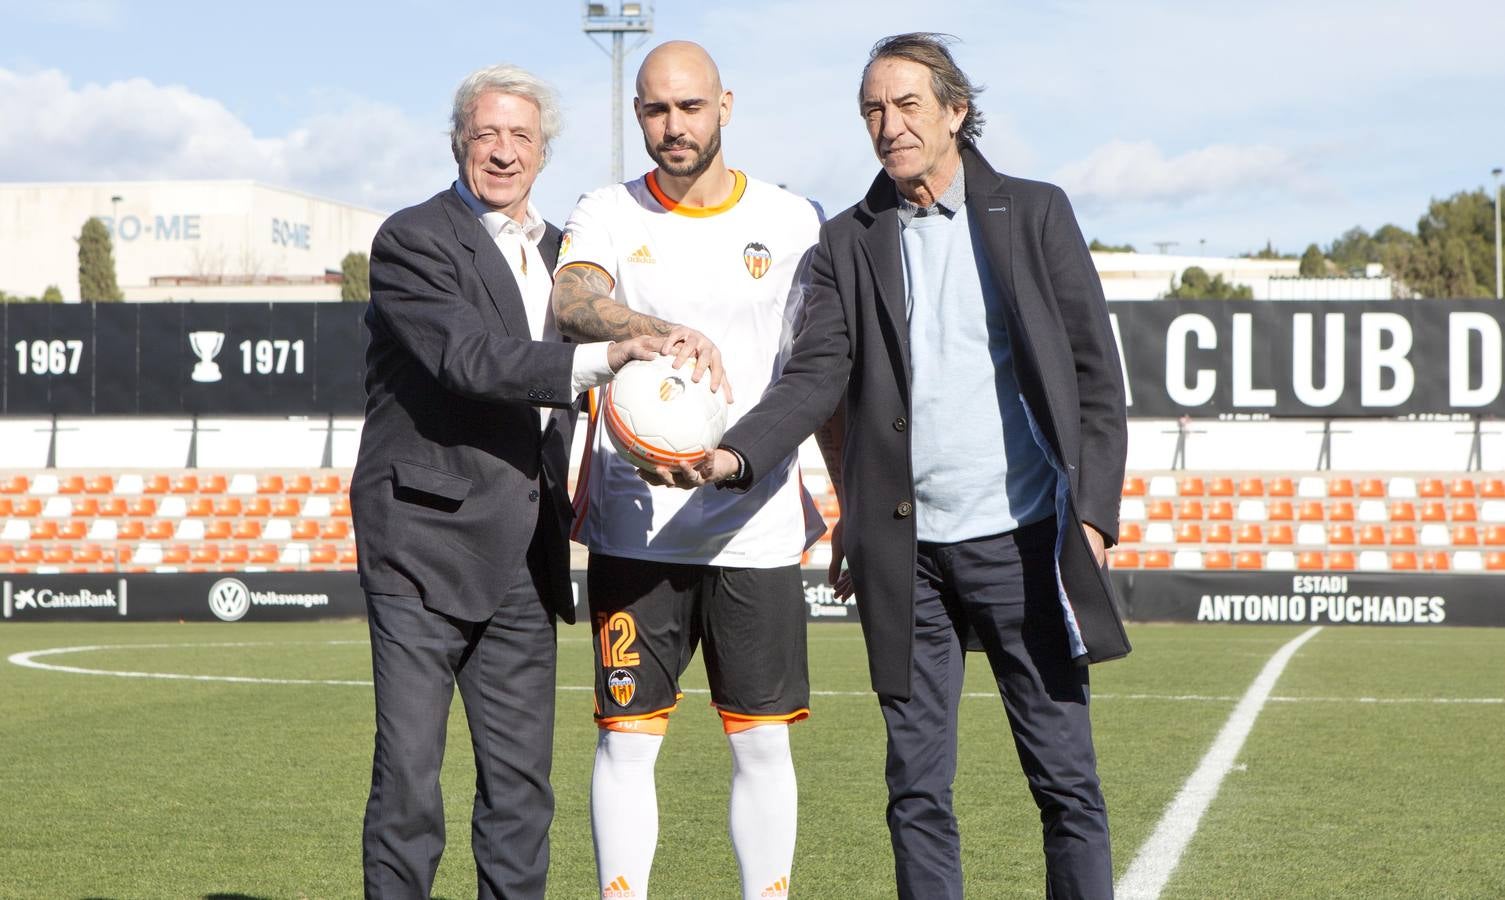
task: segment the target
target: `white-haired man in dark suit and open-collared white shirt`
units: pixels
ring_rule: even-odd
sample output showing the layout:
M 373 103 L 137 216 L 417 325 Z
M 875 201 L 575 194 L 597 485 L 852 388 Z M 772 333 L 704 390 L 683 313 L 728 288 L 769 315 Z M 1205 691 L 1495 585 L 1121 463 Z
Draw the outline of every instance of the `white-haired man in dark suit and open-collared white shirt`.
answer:
M 560 232 L 528 202 L 558 131 L 516 66 L 455 95 L 459 179 L 372 245 L 366 427 L 351 483 L 376 683 L 367 897 L 427 897 L 459 683 L 476 753 L 479 897 L 543 897 L 555 617 L 575 620 L 573 402 L 662 339 L 572 345 L 549 315 Z

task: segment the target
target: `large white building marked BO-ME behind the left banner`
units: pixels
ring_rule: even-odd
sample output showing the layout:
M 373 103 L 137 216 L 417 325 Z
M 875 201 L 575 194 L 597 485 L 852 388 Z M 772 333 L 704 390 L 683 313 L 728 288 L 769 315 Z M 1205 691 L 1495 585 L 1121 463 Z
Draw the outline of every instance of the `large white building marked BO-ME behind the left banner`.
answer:
M 0 290 L 80 299 L 89 217 L 125 299 L 281 301 L 339 299 L 340 260 L 370 253 L 387 214 L 253 181 L 0 184 Z

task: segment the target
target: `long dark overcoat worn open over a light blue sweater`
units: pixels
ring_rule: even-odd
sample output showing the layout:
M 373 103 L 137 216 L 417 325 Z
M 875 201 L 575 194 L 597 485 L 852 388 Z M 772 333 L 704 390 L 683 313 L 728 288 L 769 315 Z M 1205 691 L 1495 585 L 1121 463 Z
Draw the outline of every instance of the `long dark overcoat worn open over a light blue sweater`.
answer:
M 1114 659 L 1129 653 L 1129 641 L 1108 573 L 1081 530 L 1085 521 L 1117 540 L 1127 450 L 1123 375 L 1102 281 L 1061 188 L 1001 175 L 969 146 L 962 164 L 968 215 L 983 223 L 1005 301 L 1014 373 L 1058 471 L 1057 564 L 1063 614 L 1075 620 L 1073 646 L 1063 652 L 1079 662 Z M 793 355 L 722 442 L 757 479 L 846 400 L 843 543 L 873 689 L 906 698 L 909 667 L 894 662 L 911 658 L 915 518 L 897 197 L 894 182 L 879 173 L 862 202 L 825 224 Z

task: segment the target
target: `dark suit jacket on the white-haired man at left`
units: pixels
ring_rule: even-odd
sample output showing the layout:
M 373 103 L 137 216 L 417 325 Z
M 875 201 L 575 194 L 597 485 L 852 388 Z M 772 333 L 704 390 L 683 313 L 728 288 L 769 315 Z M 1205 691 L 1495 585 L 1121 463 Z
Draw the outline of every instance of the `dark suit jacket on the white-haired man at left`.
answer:
M 539 250 L 551 268 L 558 241 L 548 226 Z M 366 327 L 351 480 L 361 587 L 480 622 L 516 581 L 537 527 L 543 599 L 573 622 L 575 349 L 531 339 L 507 260 L 453 188 L 376 233 Z M 555 408 L 542 430 L 537 406 Z

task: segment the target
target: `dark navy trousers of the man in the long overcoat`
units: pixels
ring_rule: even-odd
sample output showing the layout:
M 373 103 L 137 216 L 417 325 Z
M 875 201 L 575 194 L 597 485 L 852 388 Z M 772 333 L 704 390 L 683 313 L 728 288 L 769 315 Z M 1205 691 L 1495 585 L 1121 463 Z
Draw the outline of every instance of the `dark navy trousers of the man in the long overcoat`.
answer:
M 1069 658 L 1054 543 L 1054 519 L 1001 536 L 920 543 L 912 695 L 880 697 L 900 897 L 962 897 L 951 783 L 969 644 L 987 653 L 1019 763 L 1040 807 L 1046 897 L 1112 895 L 1087 670 Z

